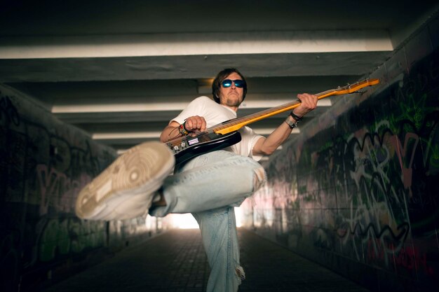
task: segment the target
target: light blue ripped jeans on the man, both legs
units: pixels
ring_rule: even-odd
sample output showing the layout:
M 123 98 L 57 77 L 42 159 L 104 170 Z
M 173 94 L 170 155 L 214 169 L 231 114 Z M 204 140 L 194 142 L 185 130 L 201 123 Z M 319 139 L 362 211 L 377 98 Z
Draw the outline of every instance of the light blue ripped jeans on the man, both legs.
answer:
M 208 292 L 238 291 L 244 272 L 239 263 L 234 207 L 265 181 L 264 168 L 255 160 L 214 151 L 190 160 L 163 183 L 167 205 L 149 214 L 191 213 L 196 218 L 211 269 Z

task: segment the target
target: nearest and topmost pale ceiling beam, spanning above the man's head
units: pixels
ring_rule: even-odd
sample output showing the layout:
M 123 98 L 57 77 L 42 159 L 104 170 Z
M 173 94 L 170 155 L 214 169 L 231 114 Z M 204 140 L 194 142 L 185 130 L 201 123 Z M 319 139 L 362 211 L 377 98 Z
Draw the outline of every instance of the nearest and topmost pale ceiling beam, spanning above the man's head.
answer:
M 0 38 L 0 59 L 391 51 L 384 29 Z

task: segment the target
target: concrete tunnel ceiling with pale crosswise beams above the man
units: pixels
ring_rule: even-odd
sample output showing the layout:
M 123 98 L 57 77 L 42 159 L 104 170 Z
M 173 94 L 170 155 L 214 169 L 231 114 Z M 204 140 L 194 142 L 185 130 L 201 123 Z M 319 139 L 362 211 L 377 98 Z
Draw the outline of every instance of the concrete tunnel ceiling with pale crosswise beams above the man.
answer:
M 226 67 L 248 78 L 238 116 L 358 81 L 436 2 L 0 0 L 0 82 L 123 151 L 211 96 Z M 333 103 L 321 100 L 304 123 Z M 283 118 L 252 127 L 268 134 Z

